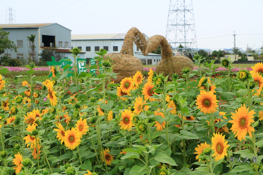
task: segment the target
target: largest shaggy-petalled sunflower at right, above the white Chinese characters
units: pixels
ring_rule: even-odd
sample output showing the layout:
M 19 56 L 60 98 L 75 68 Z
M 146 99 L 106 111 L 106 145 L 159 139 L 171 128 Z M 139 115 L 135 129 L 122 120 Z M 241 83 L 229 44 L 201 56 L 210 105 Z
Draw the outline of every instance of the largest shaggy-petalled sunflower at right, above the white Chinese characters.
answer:
M 230 130 L 232 130 L 234 132 L 235 137 L 237 136 L 237 140 L 246 140 L 245 136 L 247 135 L 247 132 L 249 133 L 250 138 L 252 138 L 252 133 L 251 131 L 255 131 L 254 128 L 252 126 L 250 126 L 250 124 L 254 121 L 254 116 L 253 114 L 256 114 L 254 112 L 254 110 L 251 110 L 250 112 L 249 108 L 246 109 L 246 106 L 244 104 L 244 106 L 241 105 L 241 108 L 238 108 L 236 110 L 236 113 L 231 113 L 232 116 L 231 118 L 233 120 L 230 120 L 229 123 L 232 123 L 232 127 L 230 128 Z

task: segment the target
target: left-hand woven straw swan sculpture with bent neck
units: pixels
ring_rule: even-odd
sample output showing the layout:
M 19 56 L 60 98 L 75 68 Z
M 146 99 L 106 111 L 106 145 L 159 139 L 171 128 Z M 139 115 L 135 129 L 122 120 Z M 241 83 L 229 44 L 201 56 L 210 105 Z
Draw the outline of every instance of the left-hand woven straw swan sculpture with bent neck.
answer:
M 119 83 L 125 77 L 132 77 L 137 71 L 143 71 L 143 63 L 133 56 L 133 42 L 142 49 L 146 49 L 146 39 L 137 28 L 131 28 L 124 38 L 120 53 L 106 54 L 104 58 L 110 57 L 113 60 L 113 72 L 119 73 L 114 83 Z M 96 63 L 98 65 L 98 63 Z M 96 71 L 98 75 L 99 72 Z

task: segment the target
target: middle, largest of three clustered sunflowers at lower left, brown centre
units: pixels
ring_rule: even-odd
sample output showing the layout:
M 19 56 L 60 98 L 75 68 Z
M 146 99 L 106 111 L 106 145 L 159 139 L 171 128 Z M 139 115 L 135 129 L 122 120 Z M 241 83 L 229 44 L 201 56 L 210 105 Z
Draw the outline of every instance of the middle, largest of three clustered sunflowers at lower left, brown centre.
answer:
M 64 143 L 68 149 L 74 150 L 76 146 L 79 146 L 80 141 L 80 132 L 78 132 L 77 128 L 68 129 L 65 132 Z

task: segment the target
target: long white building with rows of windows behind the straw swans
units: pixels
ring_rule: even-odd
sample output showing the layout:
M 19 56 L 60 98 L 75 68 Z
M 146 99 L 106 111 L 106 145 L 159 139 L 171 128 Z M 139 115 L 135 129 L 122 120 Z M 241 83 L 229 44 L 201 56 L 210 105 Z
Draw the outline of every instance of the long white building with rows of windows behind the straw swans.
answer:
M 122 34 L 87 34 L 87 35 L 71 35 L 72 47 L 82 49 L 84 57 L 89 61 L 91 58 L 98 56 L 94 52 L 99 51 L 100 48 L 107 50 L 107 53 L 119 53 L 122 49 L 125 38 Z M 145 35 L 146 40 L 148 36 Z M 144 56 L 139 48 L 133 45 L 134 56 L 139 58 L 145 65 L 157 65 L 161 60 L 159 54 L 148 54 Z

